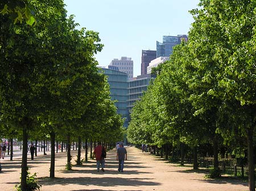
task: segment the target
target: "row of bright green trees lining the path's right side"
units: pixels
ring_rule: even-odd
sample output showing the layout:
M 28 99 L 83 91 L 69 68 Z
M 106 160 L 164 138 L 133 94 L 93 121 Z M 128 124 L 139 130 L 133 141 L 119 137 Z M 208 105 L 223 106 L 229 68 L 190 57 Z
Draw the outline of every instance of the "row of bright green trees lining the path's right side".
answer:
M 189 40 L 155 69 L 154 84 L 135 104 L 127 138 L 160 147 L 181 142 L 195 156 L 197 145 L 212 143 L 216 170 L 218 146 L 246 145 L 254 191 L 256 4 L 201 0 L 199 7 Z

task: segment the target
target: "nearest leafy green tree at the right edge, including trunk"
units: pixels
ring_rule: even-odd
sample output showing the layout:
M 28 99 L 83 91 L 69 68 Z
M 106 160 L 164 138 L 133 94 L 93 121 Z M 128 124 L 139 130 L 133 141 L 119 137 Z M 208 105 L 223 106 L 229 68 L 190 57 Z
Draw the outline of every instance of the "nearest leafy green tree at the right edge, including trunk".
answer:
M 255 190 L 253 162 L 255 129 L 255 20 L 253 18 L 255 13 L 252 11 L 255 9 L 255 3 L 239 0 L 212 0 L 201 1 L 200 6 L 203 7 L 201 10 L 192 11 L 195 23 L 189 33 L 190 40 L 194 42 L 193 48 L 197 52 L 198 63 L 214 66 L 212 72 L 208 70 L 206 79 L 215 77 L 217 83 L 215 88 L 208 91 L 208 94 L 220 99 L 223 103 L 220 105 L 222 107 L 236 101 L 240 102 L 240 105 L 236 105 L 241 112 L 232 113 L 238 114 L 234 126 L 238 125 L 246 132 L 249 190 Z M 207 53 L 209 50 L 211 53 Z M 220 129 L 226 130 L 226 128 Z

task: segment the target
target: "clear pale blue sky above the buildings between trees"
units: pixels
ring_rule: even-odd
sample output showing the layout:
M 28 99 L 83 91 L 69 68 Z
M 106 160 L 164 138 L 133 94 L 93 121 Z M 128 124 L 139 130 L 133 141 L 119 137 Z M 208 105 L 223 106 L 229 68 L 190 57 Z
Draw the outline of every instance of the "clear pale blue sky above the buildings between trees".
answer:
M 100 33 L 100 66 L 114 58 L 131 57 L 134 77 L 141 75 L 142 50 L 156 50 L 163 36 L 187 35 L 199 0 L 64 0 L 68 15 L 80 27 Z

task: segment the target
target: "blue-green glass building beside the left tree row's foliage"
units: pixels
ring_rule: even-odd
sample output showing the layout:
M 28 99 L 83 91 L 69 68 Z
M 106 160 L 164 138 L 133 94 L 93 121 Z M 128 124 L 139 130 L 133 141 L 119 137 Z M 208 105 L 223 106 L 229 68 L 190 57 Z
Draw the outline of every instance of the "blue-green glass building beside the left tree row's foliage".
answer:
M 129 120 L 129 111 L 127 108 L 128 100 L 128 75 L 122 71 L 113 69 L 101 68 L 105 75 L 108 75 L 108 83 L 110 87 L 110 97 L 112 100 L 117 100 L 115 106 L 117 113 L 125 118 L 123 127 L 127 128 Z

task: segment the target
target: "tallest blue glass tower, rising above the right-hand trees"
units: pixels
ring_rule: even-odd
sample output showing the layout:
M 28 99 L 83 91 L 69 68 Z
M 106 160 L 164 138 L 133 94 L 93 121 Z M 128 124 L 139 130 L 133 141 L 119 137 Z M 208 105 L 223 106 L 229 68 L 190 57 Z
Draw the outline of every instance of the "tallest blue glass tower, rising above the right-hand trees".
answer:
M 188 40 L 187 35 L 163 36 L 163 43 L 156 41 L 156 57 L 169 57 L 174 46 L 181 43 L 181 40 Z

